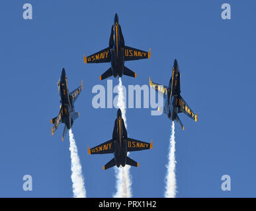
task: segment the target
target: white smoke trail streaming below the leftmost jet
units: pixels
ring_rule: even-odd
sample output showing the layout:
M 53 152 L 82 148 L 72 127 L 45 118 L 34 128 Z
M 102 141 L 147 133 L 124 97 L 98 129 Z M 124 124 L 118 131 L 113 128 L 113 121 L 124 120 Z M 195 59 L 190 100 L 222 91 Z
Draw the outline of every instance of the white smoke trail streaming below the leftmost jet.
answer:
M 74 198 L 85 198 L 85 183 L 83 181 L 82 167 L 80 164 L 79 156 L 77 153 L 77 145 L 72 130 L 69 130 L 69 150 L 71 155 L 71 180 L 73 183 L 73 196 Z

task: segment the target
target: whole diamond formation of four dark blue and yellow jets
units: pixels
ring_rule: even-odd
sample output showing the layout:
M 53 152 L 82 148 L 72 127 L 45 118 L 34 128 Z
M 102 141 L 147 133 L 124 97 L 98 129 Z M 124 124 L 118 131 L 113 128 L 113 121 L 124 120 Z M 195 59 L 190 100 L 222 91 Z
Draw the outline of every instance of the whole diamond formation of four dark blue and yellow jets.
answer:
M 114 24 L 111 27 L 111 34 L 109 39 L 109 45 L 107 48 L 98 51 L 92 55 L 85 57 L 83 55 L 84 63 L 108 63 L 111 62 L 111 67 L 100 76 L 100 80 L 108 78 L 110 76 L 122 77 L 122 75 L 136 77 L 136 73 L 124 66 L 124 61 L 131 61 L 137 59 L 148 59 L 151 57 L 151 51 L 142 51 L 133 47 L 128 47 L 124 44 L 124 36 L 122 35 L 121 26 L 118 21 L 118 15 L 114 16 Z M 181 97 L 180 87 L 180 71 L 177 60 L 175 59 L 173 69 L 171 72 L 171 79 L 169 86 L 157 84 L 152 82 L 149 77 L 149 86 L 155 88 L 155 90 L 161 92 L 165 98 L 165 106 L 158 107 L 159 110 L 167 114 L 167 117 L 171 121 L 177 121 L 184 131 L 183 123 L 179 119 L 178 113 L 185 113 L 194 121 L 197 121 L 197 113 L 195 114 L 188 104 Z M 52 135 L 58 129 L 60 123 L 64 123 L 64 132 L 62 135 L 62 141 L 65 138 L 67 129 L 71 129 L 73 121 L 79 117 L 79 113 L 75 112 L 74 103 L 77 100 L 81 90 L 83 90 L 83 80 L 81 86 L 73 90 L 73 92 L 67 89 L 67 76 L 65 70 L 62 69 L 62 75 L 58 81 L 58 87 L 60 92 L 61 106 L 60 112 L 57 117 L 51 119 Z M 88 147 L 89 154 L 114 154 L 114 158 L 110 160 L 103 169 L 108 169 L 113 166 L 124 167 L 126 164 L 130 166 L 138 167 L 138 162 L 132 160 L 127 156 L 128 152 L 138 150 L 149 150 L 153 147 L 153 141 L 151 143 L 143 142 L 133 138 L 128 138 L 124 120 L 122 119 L 122 111 L 118 109 L 117 118 L 114 121 L 114 130 L 112 133 L 112 139 L 99 144 L 93 148 Z

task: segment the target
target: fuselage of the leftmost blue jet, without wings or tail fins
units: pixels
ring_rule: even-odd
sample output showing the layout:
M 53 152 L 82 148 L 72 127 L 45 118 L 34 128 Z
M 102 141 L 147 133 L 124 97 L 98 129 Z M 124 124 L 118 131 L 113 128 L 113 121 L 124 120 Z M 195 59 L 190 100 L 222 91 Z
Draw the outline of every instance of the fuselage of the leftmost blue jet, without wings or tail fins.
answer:
M 71 129 L 73 125 L 73 112 L 74 106 L 72 98 L 69 96 L 67 88 L 67 76 L 65 75 L 65 70 L 62 70 L 62 76 L 60 77 L 60 99 L 62 103 L 61 112 L 62 112 L 62 123 L 67 125 L 67 129 Z

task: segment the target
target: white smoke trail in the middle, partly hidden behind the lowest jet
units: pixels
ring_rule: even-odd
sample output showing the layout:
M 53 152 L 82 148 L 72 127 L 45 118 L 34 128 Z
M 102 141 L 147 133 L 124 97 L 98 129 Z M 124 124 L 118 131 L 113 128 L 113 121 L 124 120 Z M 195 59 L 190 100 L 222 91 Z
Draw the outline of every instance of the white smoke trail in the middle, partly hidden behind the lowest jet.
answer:
M 119 78 L 118 84 L 118 102 L 117 106 L 122 111 L 122 119 L 124 119 L 124 125 L 126 125 L 126 102 L 124 99 L 124 89 L 122 88 L 122 80 Z M 128 155 L 128 154 L 127 154 Z M 116 173 L 116 194 L 114 198 L 130 198 L 132 197 L 132 179 L 130 175 L 130 166 L 125 167 L 114 167 Z

